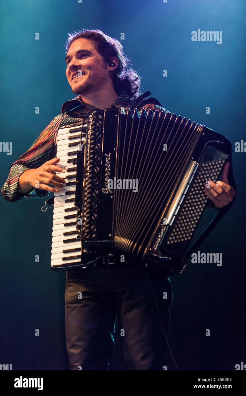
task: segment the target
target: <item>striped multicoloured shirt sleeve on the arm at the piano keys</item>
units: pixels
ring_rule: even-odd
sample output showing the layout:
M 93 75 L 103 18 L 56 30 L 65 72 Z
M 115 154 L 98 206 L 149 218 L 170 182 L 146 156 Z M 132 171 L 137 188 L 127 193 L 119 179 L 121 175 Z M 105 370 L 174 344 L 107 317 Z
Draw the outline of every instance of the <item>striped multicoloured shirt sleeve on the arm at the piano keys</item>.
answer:
M 1 194 L 7 201 L 17 201 L 21 198 L 42 198 L 49 194 L 46 190 L 37 190 L 32 188 L 30 191 L 21 193 L 19 188 L 19 177 L 26 169 L 38 168 L 46 161 L 55 158 L 56 146 L 54 141 L 54 121 L 40 133 L 37 139 L 32 143 L 28 150 L 22 154 L 9 169 L 8 179 L 4 183 Z

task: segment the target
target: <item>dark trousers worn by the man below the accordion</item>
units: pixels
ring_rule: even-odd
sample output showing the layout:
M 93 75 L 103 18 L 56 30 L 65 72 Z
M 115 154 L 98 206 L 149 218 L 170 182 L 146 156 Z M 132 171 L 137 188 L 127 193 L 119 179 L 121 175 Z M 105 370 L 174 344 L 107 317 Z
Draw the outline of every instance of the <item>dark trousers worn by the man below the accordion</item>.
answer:
M 65 321 L 69 369 L 107 370 L 117 315 L 124 369 L 162 370 L 167 350 L 163 329 L 167 335 L 171 303 L 172 286 L 162 267 L 118 263 L 68 270 Z

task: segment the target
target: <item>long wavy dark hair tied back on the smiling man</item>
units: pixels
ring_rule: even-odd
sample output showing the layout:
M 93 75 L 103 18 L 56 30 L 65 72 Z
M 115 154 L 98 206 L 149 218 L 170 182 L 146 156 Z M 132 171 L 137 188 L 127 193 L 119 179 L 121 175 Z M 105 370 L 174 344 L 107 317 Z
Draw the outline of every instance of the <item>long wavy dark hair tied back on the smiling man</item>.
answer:
M 72 42 L 77 40 L 77 38 L 92 40 L 95 43 L 97 52 L 101 55 L 104 62 L 110 63 L 112 57 L 116 57 L 119 60 L 119 65 L 113 72 L 114 90 L 117 95 L 120 95 L 122 91 L 127 92 L 131 99 L 135 99 L 141 95 L 141 77 L 136 70 L 128 68 L 131 59 L 125 56 L 123 46 L 116 38 L 107 36 L 107 34 L 104 34 L 98 29 L 82 29 L 73 34 L 68 34 L 68 40 L 65 44 L 66 53 L 68 53 L 68 49 Z

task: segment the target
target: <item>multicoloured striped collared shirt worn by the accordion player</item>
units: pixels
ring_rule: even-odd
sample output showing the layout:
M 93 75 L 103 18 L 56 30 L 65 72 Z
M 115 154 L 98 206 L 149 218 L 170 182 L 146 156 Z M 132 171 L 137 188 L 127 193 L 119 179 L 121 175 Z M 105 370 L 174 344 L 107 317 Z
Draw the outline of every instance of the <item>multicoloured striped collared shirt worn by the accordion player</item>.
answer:
M 114 101 L 112 107 L 127 107 L 130 102 L 131 98 L 125 91 L 123 91 L 121 95 L 119 95 Z M 11 164 L 8 179 L 6 180 L 1 189 L 2 196 L 7 201 L 17 201 L 23 197 L 42 198 L 45 195 L 49 194 L 49 192 L 46 190 L 38 190 L 36 188 L 32 188 L 25 194 L 19 192 L 19 177 L 23 172 L 25 172 L 25 170 L 38 168 L 46 161 L 55 158 L 57 151 L 58 129 L 61 128 L 61 126 L 73 124 L 75 122 L 83 120 L 83 118 L 73 118 L 68 115 L 68 112 L 71 109 L 80 104 L 85 106 L 88 110 L 95 109 L 95 107 L 83 102 L 80 95 L 75 97 L 74 99 L 66 101 L 62 105 L 61 114 L 53 118 L 49 125 L 40 133 L 37 139 L 28 148 L 28 150 L 24 154 L 22 154 L 15 162 L 13 162 L 13 164 Z M 144 105 L 140 110 L 142 109 L 145 109 L 146 111 L 148 111 L 148 109 L 151 109 L 153 111 L 158 110 L 159 112 L 168 112 L 168 110 L 153 103 Z

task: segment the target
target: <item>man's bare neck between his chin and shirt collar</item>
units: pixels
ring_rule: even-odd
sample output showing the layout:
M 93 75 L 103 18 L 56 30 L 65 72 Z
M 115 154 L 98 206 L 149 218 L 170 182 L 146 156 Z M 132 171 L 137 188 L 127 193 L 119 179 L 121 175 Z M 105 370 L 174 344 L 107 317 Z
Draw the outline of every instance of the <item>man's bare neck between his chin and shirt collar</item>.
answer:
M 114 90 L 114 87 L 110 85 L 109 87 L 103 87 L 96 92 L 86 92 L 81 95 L 82 100 L 88 105 L 96 107 L 96 109 L 104 110 L 112 106 L 115 99 L 119 97 Z

